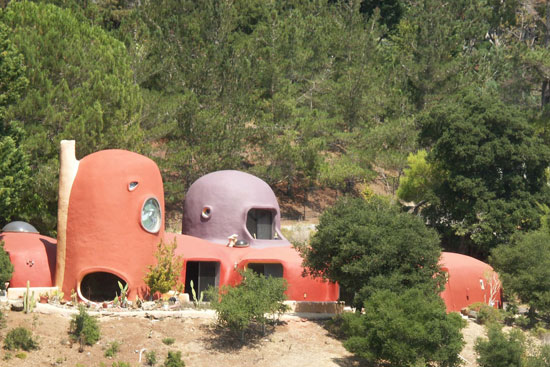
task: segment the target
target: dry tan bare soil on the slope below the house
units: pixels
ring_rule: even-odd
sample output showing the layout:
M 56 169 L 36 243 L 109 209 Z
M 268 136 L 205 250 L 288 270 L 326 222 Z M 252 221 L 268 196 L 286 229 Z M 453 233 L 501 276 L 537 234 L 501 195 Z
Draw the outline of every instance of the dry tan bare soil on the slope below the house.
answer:
M 44 313 L 46 312 L 46 313 Z M 249 337 L 247 344 L 216 328 L 211 312 L 163 313 L 141 312 L 134 316 L 111 312 L 99 316 L 101 340 L 79 352 L 68 335 L 71 316 L 66 311 L 37 310 L 31 314 L 5 312 L 8 327 L 0 331 L 3 337 L 8 330 L 24 326 L 38 337 L 40 350 L 27 352 L 26 358 L 16 352 L 0 350 L 0 366 L 93 366 L 111 367 L 115 362 L 131 366 L 145 365 L 145 353 L 139 362 L 140 351 L 156 351 L 161 365 L 168 351 L 181 351 L 186 366 L 369 366 L 345 350 L 340 340 L 329 334 L 326 321 L 306 320 L 285 315 L 279 325 L 267 330 L 265 336 Z M 159 316 L 160 314 L 160 316 Z M 464 329 L 467 345 L 461 353 L 465 367 L 475 367 L 473 345 L 484 328 L 468 322 Z M 174 338 L 172 345 L 163 343 Z M 113 341 L 121 343 L 114 358 L 105 357 L 105 350 Z M 7 353 L 11 359 L 5 360 Z

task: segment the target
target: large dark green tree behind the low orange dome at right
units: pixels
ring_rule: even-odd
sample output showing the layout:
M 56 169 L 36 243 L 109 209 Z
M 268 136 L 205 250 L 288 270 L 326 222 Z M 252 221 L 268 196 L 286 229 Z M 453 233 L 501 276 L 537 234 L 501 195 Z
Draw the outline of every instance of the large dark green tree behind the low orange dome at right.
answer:
M 422 213 L 446 248 L 486 257 L 518 229 L 539 226 L 550 150 L 517 108 L 467 89 L 419 123 L 427 162 L 444 174 Z

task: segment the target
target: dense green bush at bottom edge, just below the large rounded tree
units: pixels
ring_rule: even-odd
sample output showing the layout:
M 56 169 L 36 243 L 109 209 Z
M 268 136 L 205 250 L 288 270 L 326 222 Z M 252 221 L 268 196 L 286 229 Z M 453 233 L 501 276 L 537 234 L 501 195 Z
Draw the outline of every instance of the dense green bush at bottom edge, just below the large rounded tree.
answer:
M 377 291 L 366 300 L 365 313 L 347 321 L 344 346 L 363 358 L 411 367 L 461 364 L 464 321 L 457 313 L 447 314 L 435 293 Z

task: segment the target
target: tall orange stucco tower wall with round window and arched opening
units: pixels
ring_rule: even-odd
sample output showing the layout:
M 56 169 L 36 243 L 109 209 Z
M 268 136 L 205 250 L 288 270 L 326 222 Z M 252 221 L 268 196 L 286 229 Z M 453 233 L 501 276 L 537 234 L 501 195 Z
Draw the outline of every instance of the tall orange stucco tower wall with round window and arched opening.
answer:
M 130 191 L 130 182 L 138 186 Z M 146 267 L 164 233 L 141 227 L 141 208 L 155 197 L 164 215 L 164 191 L 157 165 L 142 155 L 105 150 L 84 157 L 72 186 L 63 292 L 78 290 L 92 272 L 108 272 L 129 284 L 128 297 L 144 297 Z M 85 296 L 85 291 L 82 290 Z

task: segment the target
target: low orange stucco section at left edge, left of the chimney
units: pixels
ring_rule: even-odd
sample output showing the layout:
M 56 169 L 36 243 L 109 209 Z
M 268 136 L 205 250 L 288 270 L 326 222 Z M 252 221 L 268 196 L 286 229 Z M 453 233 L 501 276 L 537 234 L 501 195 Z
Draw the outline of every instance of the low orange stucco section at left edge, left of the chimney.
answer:
M 51 287 L 54 282 L 56 240 L 38 233 L 3 232 L 4 250 L 14 272 L 10 287 Z

